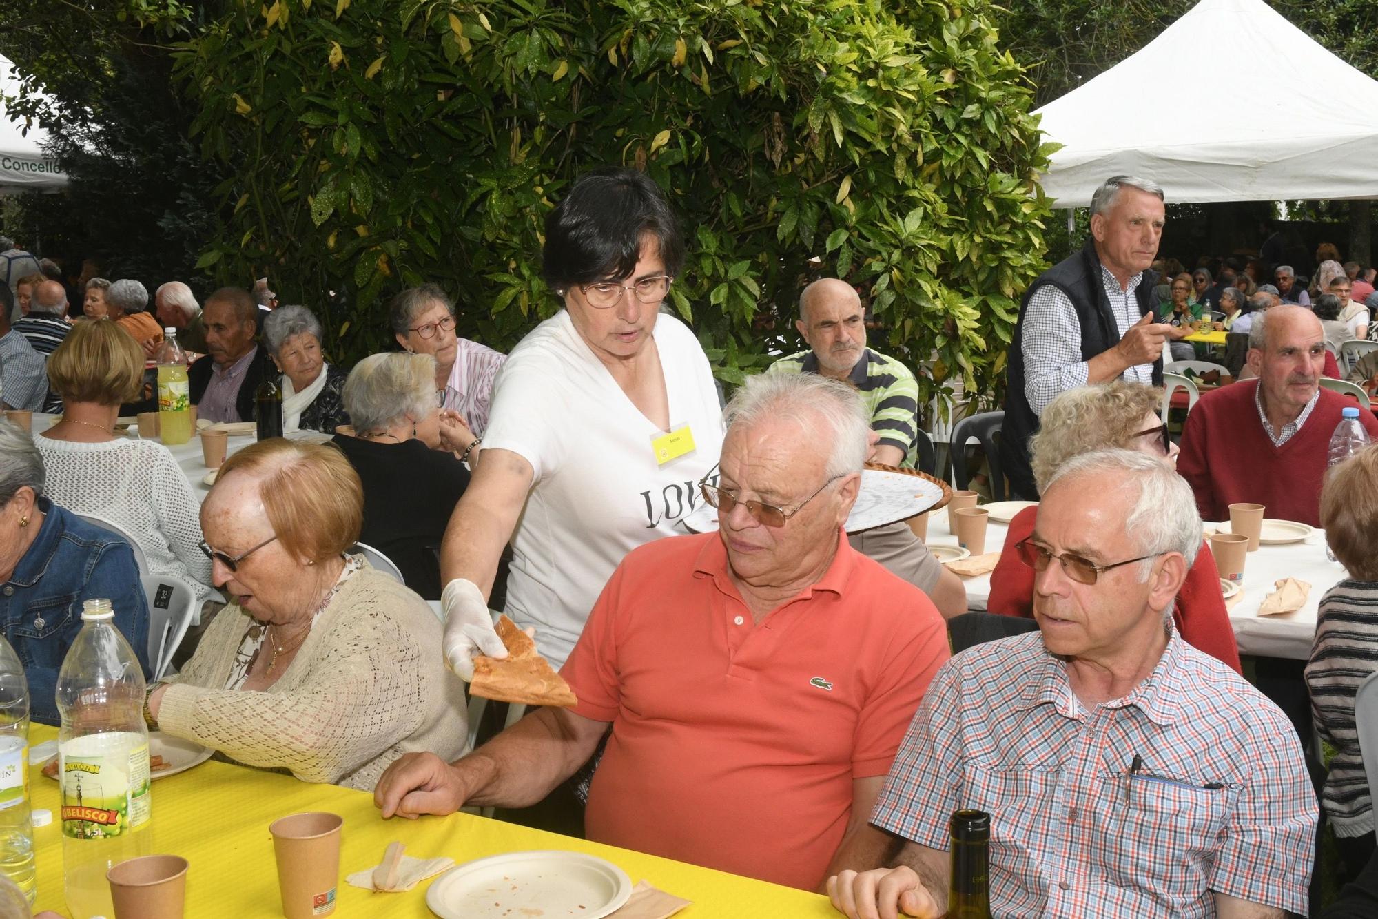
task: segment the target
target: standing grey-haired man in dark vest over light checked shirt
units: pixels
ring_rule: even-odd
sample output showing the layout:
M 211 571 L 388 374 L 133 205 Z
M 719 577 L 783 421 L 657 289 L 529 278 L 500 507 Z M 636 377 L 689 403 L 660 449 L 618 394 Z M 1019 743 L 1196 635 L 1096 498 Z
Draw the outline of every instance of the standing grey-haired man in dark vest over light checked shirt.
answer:
M 1016 497 L 1036 499 L 1028 438 L 1060 393 L 1118 378 L 1163 382 L 1163 342 L 1153 285 L 1163 234 L 1163 189 L 1116 175 L 1091 197 L 1091 238 L 1040 274 L 1020 306 L 1009 350 L 1000 466 Z

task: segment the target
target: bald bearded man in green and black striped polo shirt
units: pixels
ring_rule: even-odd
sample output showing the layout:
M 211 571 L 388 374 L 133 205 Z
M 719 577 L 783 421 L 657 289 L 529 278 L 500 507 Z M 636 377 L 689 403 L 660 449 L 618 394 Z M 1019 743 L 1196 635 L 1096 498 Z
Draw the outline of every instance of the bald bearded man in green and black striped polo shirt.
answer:
M 861 394 L 876 442 L 867 457 L 886 466 L 918 466 L 918 393 L 914 372 L 865 344 L 865 310 L 846 281 L 820 278 L 799 295 L 799 335 L 809 346 L 781 357 L 768 373 L 819 373 Z M 933 601 L 944 617 L 966 612 L 962 579 L 943 568 L 904 521 L 852 533 L 852 547 L 885 565 Z

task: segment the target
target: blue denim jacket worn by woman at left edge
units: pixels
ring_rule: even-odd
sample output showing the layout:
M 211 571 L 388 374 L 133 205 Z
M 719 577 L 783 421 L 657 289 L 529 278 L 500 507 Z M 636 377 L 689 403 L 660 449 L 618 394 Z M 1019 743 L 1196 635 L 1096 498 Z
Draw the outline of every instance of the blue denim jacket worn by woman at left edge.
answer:
M 81 602 L 107 598 L 114 626 L 149 675 L 149 606 L 134 550 L 114 533 L 39 499 L 43 526 L 0 584 L 0 624 L 29 677 L 33 721 L 56 725 L 58 670 L 81 631 Z

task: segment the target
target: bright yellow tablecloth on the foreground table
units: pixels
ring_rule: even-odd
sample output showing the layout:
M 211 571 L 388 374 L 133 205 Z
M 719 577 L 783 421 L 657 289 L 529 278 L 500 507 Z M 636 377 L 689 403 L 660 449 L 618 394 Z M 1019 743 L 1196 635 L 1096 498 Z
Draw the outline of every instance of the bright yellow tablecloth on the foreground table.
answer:
M 56 732 L 33 725 L 29 741 L 52 740 Z M 37 909 L 66 913 L 62 890 L 62 840 L 58 832 L 58 784 L 30 772 L 34 807 L 54 812 L 54 823 L 34 831 L 39 863 Z M 692 900 L 681 916 L 820 916 L 836 919 L 827 897 L 751 880 L 739 875 L 686 865 L 626 849 L 602 846 L 558 834 L 528 829 L 470 814 L 387 820 L 372 795 L 313 785 L 291 776 L 205 762 L 153 783 L 153 851 L 175 853 L 192 863 L 187 874 L 187 919 L 281 918 L 273 839 L 267 825 L 303 810 L 328 810 L 344 817 L 336 916 L 431 916 L 424 880 L 404 893 L 372 893 L 344 883 L 344 875 L 376 865 L 389 842 L 400 839 L 407 854 L 448 856 L 456 863 L 504 851 L 565 849 L 601 856 L 631 876 Z M 149 831 L 143 831 L 149 832 Z M 723 829 L 723 832 L 730 832 Z

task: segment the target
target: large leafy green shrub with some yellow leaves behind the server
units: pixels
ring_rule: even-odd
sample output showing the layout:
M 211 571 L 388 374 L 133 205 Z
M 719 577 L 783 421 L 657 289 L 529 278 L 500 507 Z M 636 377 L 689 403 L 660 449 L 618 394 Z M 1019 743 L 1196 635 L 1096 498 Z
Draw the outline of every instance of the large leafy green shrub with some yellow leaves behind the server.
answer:
M 1032 90 L 987 3 L 258 0 L 178 52 L 229 212 L 200 262 L 339 293 L 350 354 L 437 281 L 500 347 L 558 309 L 542 223 L 595 165 L 648 171 L 692 255 L 671 292 L 718 375 L 761 366 L 813 273 L 883 350 L 991 391 L 1042 267 Z M 820 259 L 810 265 L 810 259 Z M 787 338 L 792 344 L 794 333 Z

